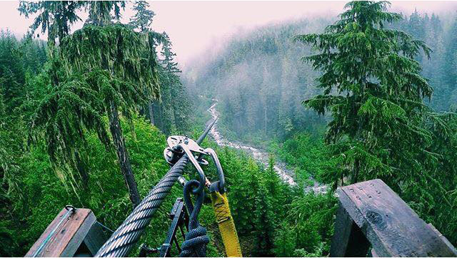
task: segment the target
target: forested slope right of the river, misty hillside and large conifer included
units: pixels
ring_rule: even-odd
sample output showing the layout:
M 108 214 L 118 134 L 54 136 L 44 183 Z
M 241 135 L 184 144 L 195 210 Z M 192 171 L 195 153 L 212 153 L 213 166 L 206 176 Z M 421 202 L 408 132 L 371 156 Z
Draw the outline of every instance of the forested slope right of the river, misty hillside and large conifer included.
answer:
M 373 13 L 374 6 L 383 5 L 371 4 Z M 350 4 L 348 9 L 352 11 L 356 7 Z M 377 6 L 376 11 L 387 11 L 384 7 L 387 8 L 388 4 Z M 395 41 L 392 38 L 397 34 L 389 38 L 385 46 L 375 45 L 374 40 L 356 41 L 360 46 L 352 44 L 353 48 L 343 49 L 334 41 L 323 41 L 326 35 L 348 35 L 349 38 L 353 33 L 364 32 L 365 27 L 358 31 L 343 28 L 344 22 L 348 22 L 345 19 L 354 15 L 351 11 L 340 17 L 314 17 L 237 34 L 218 54 L 196 62 L 196 66 L 185 74 L 186 86 L 195 95 L 201 94 L 203 102 L 218 100 L 219 130 L 223 135 L 274 153 L 293 167 L 297 179 L 303 184 L 311 183 L 310 176 L 333 185 L 333 189 L 337 185 L 381 178 L 421 217 L 437 225 L 451 242 L 456 243 L 454 222 L 451 222 L 456 220 L 455 212 L 449 212 L 456 207 L 456 170 L 449 161 L 455 159 L 453 153 L 457 150 L 453 113 L 457 108 L 457 16 L 455 13 L 438 16 L 414 11 L 395 14 L 389 19 L 379 18 L 381 23 L 376 20 L 373 24 L 407 33 L 409 37 Z M 336 26 L 339 30 L 334 29 Z M 378 33 L 381 32 L 382 27 Z M 296 37 L 307 33 L 323 33 L 323 36 L 312 39 Z M 369 52 L 373 56 L 358 61 L 370 68 L 377 65 L 386 73 L 378 73 L 377 67 L 373 67 L 376 72 L 359 71 L 336 57 L 335 63 L 325 62 L 326 58 L 333 61 L 330 53 L 321 59 L 313 56 L 333 48 L 348 52 L 338 56 L 341 59 L 358 60 L 361 58 L 357 56 L 361 55 L 358 51 L 374 51 L 388 46 L 403 48 L 408 46 L 408 41 L 411 42 L 409 53 L 406 50 L 400 53 L 395 50 L 392 53 Z M 365 44 L 372 48 L 367 50 Z M 398 61 L 370 63 L 370 58 L 393 53 L 410 58 L 408 64 L 401 65 Z M 338 65 L 351 67 L 358 73 L 350 73 Z M 401 66 L 411 70 L 397 74 L 390 71 Z M 387 89 L 388 86 L 384 85 L 396 85 L 399 81 L 382 81 L 386 80 L 385 76 L 407 78 L 413 73 L 421 83 L 402 82 L 417 87 L 414 91 L 418 96 L 408 96 L 406 90 L 394 88 L 384 95 L 365 89 L 368 91 L 366 95 L 354 100 L 351 96 L 360 90 L 353 87 L 368 86 L 363 86 L 365 83 L 345 86 L 341 85 L 345 81 L 327 78 L 336 76 L 333 74 L 336 71 L 337 78 L 348 76 L 347 83 L 363 75 L 373 86 L 381 85 Z M 338 95 L 338 98 L 330 97 Z M 390 100 L 403 96 L 403 101 L 411 101 L 411 106 Z M 303 103 L 303 100 L 306 101 Z M 356 108 L 345 104 L 346 101 L 357 101 Z M 340 108 L 340 105 L 343 106 Z M 377 109 L 384 113 L 375 113 Z M 403 122 L 394 122 L 401 120 Z M 408 130 L 415 132 L 406 133 Z

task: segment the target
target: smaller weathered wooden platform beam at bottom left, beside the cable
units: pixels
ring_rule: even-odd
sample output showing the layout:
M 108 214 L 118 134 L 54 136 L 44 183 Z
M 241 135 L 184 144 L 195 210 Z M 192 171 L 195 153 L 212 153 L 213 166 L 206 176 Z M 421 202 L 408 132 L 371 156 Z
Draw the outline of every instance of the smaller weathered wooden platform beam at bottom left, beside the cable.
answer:
M 66 213 L 65 208 L 59 212 L 25 257 L 92 257 L 96 254 L 109 235 L 96 222 L 94 212 L 79 208 L 71 216 Z

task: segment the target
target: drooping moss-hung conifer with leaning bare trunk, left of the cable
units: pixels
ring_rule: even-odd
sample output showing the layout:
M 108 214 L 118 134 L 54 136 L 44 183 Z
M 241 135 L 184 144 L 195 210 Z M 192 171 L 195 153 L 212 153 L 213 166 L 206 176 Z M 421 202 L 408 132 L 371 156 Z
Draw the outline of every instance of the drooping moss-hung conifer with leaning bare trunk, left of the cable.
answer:
M 119 19 L 124 2 L 90 2 L 86 26 L 60 39 L 59 56 L 51 61 L 52 93 L 36 109 L 32 127 L 43 128 L 52 160 L 80 160 L 77 148 L 84 130 L 99 135 L 116 154 L 134 205 L 140 202 L 119 111 L 131 118 L 136 106 L 159 95 L 156 57 L 148 34 L 123 25 L 112 25 L 111 12 Z M 103 116 L 109 118 L 109 132 Z M 111 142 L 112 140 L 112 142 Z

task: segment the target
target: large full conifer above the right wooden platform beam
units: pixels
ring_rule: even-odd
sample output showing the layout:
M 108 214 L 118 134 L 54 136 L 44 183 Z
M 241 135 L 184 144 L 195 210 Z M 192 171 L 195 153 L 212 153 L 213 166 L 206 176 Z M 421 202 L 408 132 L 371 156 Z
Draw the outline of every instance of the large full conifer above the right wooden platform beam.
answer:
M 386 29 L 402 19 L 387 11 L 389 4 L 351 1 L 324 33 L 296 37 L 321 52 L 303 59 L 323 71 L 317 79 L 323 94 L 303 103 L 320 114 L 331 111 L 326 143 L 341 159 L 334 180 L 381 177 L 398 184 L 398 177 L 415 176 L 416 164 L 433 163 L 426 150 L 431 133 L 422 126 L 429 112 L 422 99 L 431 97 L 432 88 L 413 59 L 431 50 L 407 33 Z

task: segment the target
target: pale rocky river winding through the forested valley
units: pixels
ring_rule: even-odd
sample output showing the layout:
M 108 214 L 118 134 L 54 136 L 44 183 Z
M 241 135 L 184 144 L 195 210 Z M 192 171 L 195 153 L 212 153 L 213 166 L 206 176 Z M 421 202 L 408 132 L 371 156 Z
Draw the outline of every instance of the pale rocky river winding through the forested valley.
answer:
M 214 100 L 214 104 L 211 105 L 211 107 L 208 109 L 208 112 L 211 113 L 211 116 L 213 119 L 218 119 L 219 118 L 219 112 L 216 110 L 216 105 L 217 105 L 217 100 Z M 263 165 L 268 166 L 268 158 L 269 154 L 266 152 L 266 150 L 261 150 L 259 148 L 254 148 L 252 146 L 243 144 L 243 143 L 233 143 L 230 140 L 224 138 L 223 135 L 218 130 L 218 123 L 219 121 L 216 121 L 214 124 L 213 128 L 210 130 L 210 135 L 211 138 L 214 139 L 214 141 L 217 143 L 219 146 L 227 146 L 231 148 L 236 148 L 238 150 L 245 150 L 246 153 L 249 153 L 253 156 L 255 160 L 258 162 L 261 162 Z M 288 183 L 288 185 L 291 186 L 296 186 L 296 182 L 293 179 L 295 172 L 293 170 L 288 169 L 286 166 L 286 163 L 281 162 L 281 160 L 275 160 L 275 165 L 274 165 L 274 170 L 276 174 L 278 174 L 281 179 Z M 319 184 L 316 180 L 313 179 L 313 177 L 310 177 L 310 180 L 313 182 L 313 185 L 309 185 L 305 187 L 305 192 L 316 192 L 316 193 L 325 193 L 328 191 L 328 187 L 326 185 L 321 185 Z

